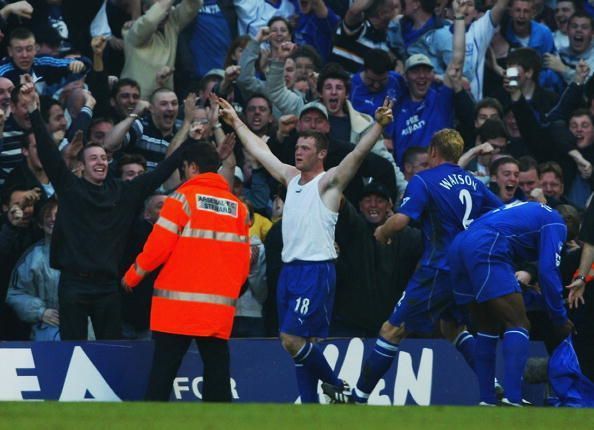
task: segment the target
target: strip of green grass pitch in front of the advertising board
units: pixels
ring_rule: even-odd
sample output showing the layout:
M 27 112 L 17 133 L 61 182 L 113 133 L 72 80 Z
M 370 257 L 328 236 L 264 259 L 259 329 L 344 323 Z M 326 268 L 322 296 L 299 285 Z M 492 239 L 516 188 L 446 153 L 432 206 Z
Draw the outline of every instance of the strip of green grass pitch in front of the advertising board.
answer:
M 0 429 L 594 430 L 594 409 L 0 402 Z

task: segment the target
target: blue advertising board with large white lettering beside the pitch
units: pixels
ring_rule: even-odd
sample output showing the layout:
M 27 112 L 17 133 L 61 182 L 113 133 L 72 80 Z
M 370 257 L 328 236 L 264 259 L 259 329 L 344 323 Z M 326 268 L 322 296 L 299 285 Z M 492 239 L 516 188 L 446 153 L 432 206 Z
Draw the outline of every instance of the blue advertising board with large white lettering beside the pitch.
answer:
M 353 338 L 329 340 L 321 347 L 339 377 L 354 385 L 373 345 L 373 339 Z M 531 356 L 547 355 L 541 342 L 532 342 L 530 348 Z M 230 350 L 234 401 L 299 403 L 293 362 L 277 339 L 234 339 Z M 142 400 L 152 351 L 152 342 L 2 342 L 0 400 Z M 201 375 L 200 355 L 192 345 L 174 381 L 171 400 L 199 401 Z M 543 403 L 544 385 L 524 388 L 525 398 Z M 476 377 L 460 353 L 443 340 L 415 339 L 402 343 L 395 364 L 369 399 L 375 405 L 477 402 Z

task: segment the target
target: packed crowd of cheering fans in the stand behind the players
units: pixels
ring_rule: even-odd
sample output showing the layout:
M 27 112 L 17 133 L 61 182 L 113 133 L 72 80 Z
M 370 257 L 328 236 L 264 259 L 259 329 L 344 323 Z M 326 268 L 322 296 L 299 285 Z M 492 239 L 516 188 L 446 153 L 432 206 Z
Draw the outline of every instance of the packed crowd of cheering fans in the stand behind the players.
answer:
M 454 31 L 462 20 L 465 34 Z M 235 144 L 219 122 L 216 96 L 285 163 L 294 164 L 299 132 L 326 134 L 326 168 L 357 145 L 376 108 L 391 99 L 394 123 L 345 191 L 331 335 L 375 336 L 404 290 L 422 252 L 419 230 L 407 227 L 388 245 L 376 243 L 373 230 L 397 210 L 407 181 L 429 167 L 426 147 L 442 128 L 460 131 L 459 165 L 503 203 L 540 201 L 573 220 L 566 282 L 577 267 L 594 163 L 588 1 L 3 1 L 0 29 L 0 339 L 60 338 L 60 272 L 50 265 L 49 244 L 64 202 L 37 153 L 25 82 L 35 83 L 46 131 L 68 168 L 81 175 L 88 169 L 81 149 L 100 145 L 108 175 L 122 181 L 154 171 L 187 140 Z M 252 266 L 234 336 L 276 336 L 283 189 L 239 143 L 225 158 L 252 222 Z M 122 274 L 182 180 L 171 175 L 120 232 Z M 100 235 L 103 227 L 85 228 Z M 533 338 L 546 340 L 537 269 L 520 263 Z M 153 280 L 121 293 L 123 338 L 150 338 Z M 592 354 L 579 341 L 592 334 L 592 308 L 577 312 L 576 348 Z M 594 355 L 587 357 L 582 366 L 592 377 Z

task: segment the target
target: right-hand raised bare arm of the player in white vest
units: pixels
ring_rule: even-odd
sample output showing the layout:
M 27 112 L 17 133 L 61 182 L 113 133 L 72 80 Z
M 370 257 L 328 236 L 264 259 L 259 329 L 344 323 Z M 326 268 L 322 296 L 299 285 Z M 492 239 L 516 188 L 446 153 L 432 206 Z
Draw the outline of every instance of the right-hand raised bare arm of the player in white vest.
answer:
M 380 138 L 384 127 L 392 122 L 392 102 L 386 101 L 384 105 L 377 108 L 375 111 L 375 123 L 369 128 L 369 131 L 361 138 L 359 143 L 355 146 L 346 157 L 336 167 L 328 171 L 326 178 L 324 178 L 324 187 L 322 192 L 333 188 L 342 193 L 347 187 L 350 180 L 355 176 L 357 170 L 363 163 L 364 158 L 369 154 L 375 142 Z

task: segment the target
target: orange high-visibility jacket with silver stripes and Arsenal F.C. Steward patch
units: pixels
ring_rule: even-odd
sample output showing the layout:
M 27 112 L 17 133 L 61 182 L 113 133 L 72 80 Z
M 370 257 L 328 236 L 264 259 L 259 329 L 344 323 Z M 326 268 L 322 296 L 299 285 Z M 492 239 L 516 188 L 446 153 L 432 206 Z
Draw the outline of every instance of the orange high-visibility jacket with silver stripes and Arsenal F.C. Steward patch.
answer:
M 190 179 L 161 216 L 124 281 L 138 285 L 161 264 L 151 329 L 229 339 L 235 301 L 250 265 L 248 212 L 216 173 Z

